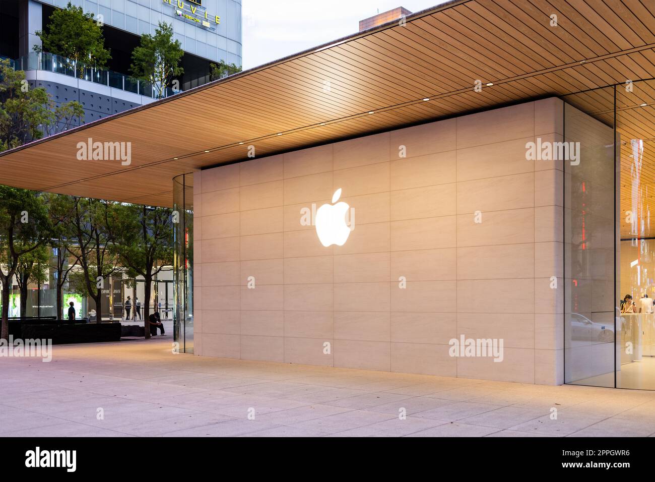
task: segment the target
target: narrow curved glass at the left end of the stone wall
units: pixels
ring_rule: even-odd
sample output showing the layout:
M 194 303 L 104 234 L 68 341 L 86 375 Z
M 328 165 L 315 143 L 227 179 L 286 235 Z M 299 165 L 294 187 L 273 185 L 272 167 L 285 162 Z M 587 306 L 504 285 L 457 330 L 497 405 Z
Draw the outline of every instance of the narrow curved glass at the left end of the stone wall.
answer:
M 173 178 L 173 209 L 174 340 L 178 351 L 193 353 L 193 174 Z

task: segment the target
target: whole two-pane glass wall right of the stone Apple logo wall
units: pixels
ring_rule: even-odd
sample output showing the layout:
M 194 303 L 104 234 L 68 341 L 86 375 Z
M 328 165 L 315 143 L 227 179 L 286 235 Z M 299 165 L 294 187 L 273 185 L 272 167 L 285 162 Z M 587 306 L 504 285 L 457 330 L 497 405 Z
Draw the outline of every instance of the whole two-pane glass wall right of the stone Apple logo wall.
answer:
M 564 100 L 565 382 L 655 390 L 655 81 Z

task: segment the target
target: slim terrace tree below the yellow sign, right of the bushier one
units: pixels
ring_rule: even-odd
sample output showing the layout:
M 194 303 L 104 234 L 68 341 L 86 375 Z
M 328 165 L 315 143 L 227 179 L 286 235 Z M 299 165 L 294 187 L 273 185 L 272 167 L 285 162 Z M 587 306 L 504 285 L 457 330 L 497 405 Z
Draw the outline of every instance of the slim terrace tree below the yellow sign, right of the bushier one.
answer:
M 144 33 L 140 47 L 132 50 L 132 75 L 153 85 L 155 96 L 163 98 L 175 77 L 184 73 L 179 66 L 184 54 L 181 47 L 179 40 L 173 41 L 173 26 L 159 22 L 155 35 Z

